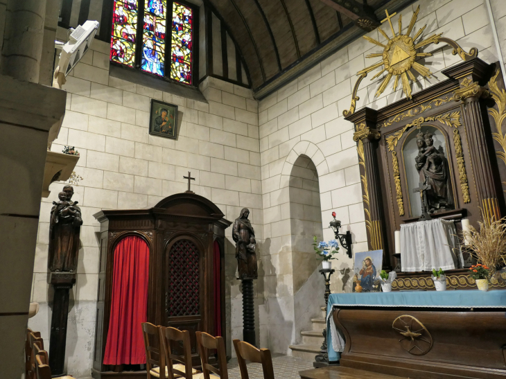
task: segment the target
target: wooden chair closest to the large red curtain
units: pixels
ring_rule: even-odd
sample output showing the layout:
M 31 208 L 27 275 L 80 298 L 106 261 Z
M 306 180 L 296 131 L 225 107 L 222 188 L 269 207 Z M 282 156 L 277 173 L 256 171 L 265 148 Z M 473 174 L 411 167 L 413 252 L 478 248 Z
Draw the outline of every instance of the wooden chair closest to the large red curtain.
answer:
M 167 369 L 165 355 L 162 352 L 159 327 L 149 322 L 143 322 L 142 333 L 144 336 L 144 347 L 146 348 L 146 371 L 148 372 L 148 379 L 166 379 Z M 150 337 L 153 341 L 152 344 L 150 343 Z M 165 369 L 160 370 L 160 367 L 165 367 Z

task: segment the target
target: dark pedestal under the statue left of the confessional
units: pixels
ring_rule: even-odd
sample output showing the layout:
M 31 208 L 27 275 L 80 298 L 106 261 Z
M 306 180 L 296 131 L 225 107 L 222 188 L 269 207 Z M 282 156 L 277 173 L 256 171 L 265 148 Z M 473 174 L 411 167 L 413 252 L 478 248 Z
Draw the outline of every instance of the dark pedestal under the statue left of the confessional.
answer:
M 67 344 L 67 319 L 69 317 L 69 290 L 76 283 L 75 272 L 51 272 L 53 316 L 49 335 L 49 367 L 53 378 L 64 376 L 65 345 Z

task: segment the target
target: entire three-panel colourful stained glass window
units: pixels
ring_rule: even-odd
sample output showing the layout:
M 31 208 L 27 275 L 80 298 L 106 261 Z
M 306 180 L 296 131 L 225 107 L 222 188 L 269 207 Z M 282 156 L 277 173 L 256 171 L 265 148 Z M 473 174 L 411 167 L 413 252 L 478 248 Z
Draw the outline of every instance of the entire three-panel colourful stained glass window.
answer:
M 180 2 L 114 0 L 110 59 L 192 85 L 194 19 L 193 9 Z

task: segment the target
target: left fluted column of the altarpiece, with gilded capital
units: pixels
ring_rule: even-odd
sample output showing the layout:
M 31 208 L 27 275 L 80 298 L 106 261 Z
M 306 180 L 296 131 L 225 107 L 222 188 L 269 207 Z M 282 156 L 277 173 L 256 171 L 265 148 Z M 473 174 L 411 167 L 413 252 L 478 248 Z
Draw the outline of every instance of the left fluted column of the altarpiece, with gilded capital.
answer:
M 354 141 L 357 141 L 358 163 L 363 169 L 361 179 L 369 249 L 385 249 L 385 218 L 381 205 L 383 197 L 376 153 L 381 133 L 376 130 L 376 113 L 372 112 L 372 109 L 360 109 L 350 121 L 356 125 Z M 387 254 L 385 258 L 387 259 Z M 388 265 L 388 260 L 385 265 Z

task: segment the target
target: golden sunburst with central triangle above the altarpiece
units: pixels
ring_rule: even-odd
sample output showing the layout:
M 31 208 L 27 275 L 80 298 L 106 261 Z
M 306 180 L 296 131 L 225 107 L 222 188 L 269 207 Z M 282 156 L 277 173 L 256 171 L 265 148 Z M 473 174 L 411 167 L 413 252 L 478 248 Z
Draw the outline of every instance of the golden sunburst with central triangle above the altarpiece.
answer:
M 410 25 L 408 26 L 408 30 L 406 30 L 405 34 L 402 34 L 402 15 L 399 15 L 399 33 L 395 33 L 394 26 L 392 25 L 392 17 L 396 15 L 396 12 L 392 13 L 392 15 L 388 14 L 388 10 L 385 10 L 387 17 L 381 21 L 383 24 L 385 21 L 388 21 L 390 24 L 390 28 L 392 29 L 392 38 L 388 37 L 387 33 L 385 33 L 381 28 L 378 28 L 378 31 L 387 39 L 386 44 L 382 44 L 376 39 L 364 36 L 367 41 L 372 44 L 376 44 L 378 46 L 383 47 L 383 53 L 373 53 L 367 55 L 365 58 L 376 58 L 381 57 L 382 60 L 373 64 L 372 66 L 366 67 L 365 69 L 358 71 L 359 75 L 367 74 L 370 71 L 377 69 L 378 67 L 383 67 L 383 69 L 376 73 L 375 76 L 372 77 L 371 80 L 378 78 L 382 73 L 387 71 L 387 75 L 383 82 L 381 82 L 378 91 L 374 96 L 380 96 L 383 91 L 385 91 L 387 85 L 392 80 L 392 76 L 395 77 L 394 81 L 394 91 L 397 89 L 397 85 L 399 84 L 399 77 L 401 77 L 403 91 L 407 98 L 411 98 L 411 87 L 409 80 L 412 82 L 416 81 L 415 75 L 412 73 L 411 69 L 417 71 L 424 78 L 430 77 L 432 73 L 429 69 L 422 66 L 418 62 L 415 62 L 417 57 L 430 57 L 431 53 L 417 53 L 417 49 L 426 46 L 428 44 L 437 44 L 439 42 L 439 38 L 443 33 L 431 35 L 426 39 L 421 39 L 417 42 L 417 39 L 421 36 L 421 33 L 424 32 L 426 25 L 418 30 L 418 32 L 411 37 L 411 32 L 413 27 L 415 26 L 415 22 L 417 22 L 418 13 L 420 11 L 420 6 L 418 6 L 417 10 L 411 17 Z

